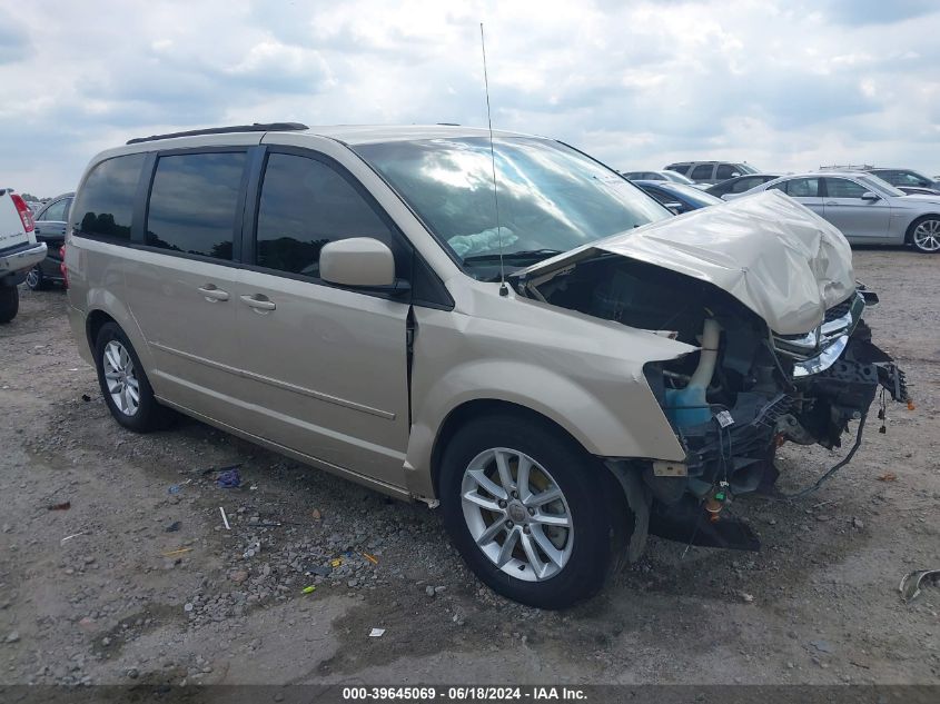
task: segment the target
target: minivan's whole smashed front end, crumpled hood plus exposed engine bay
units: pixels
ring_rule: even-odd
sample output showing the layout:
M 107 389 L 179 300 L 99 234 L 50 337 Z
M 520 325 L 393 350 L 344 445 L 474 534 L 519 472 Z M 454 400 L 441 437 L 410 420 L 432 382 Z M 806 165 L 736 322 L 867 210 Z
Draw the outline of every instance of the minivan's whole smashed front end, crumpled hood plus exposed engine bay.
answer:
M 854 281 L 844 239 L 780 198 L 675 218 L 517 281 L 522 295 L 699 347 L 643 367 L 685 460 L 607 459 L 643 517 L 632 559 L 647 527 L 686 544 L 758 549 L 724 508 L 742 494 L 775 493 L 783 443 L 840 447 L 857 422 L 855 443 L 834 470 L 854 454 L 879 388 L 909 401 L 904 374 L 871 341 L 863 314 L 877 297 Z M 773 237 L 754 242 L 742 224 Z M 716 232 L 735 227 L 738 250 L 728 237 L 718 252 L 705 246 L 710 234 L 721 244 Z

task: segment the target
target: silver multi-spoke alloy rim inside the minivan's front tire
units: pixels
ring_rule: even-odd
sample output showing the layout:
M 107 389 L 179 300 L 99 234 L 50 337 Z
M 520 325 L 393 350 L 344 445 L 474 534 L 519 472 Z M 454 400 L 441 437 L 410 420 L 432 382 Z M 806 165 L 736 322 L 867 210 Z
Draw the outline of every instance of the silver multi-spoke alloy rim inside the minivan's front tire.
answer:
M 507 447 L 482 452 L 464 470 L 464 519 L 484 555 L 516 579 L 558 574 L 574 545 L 567 500 L 552 475 Z

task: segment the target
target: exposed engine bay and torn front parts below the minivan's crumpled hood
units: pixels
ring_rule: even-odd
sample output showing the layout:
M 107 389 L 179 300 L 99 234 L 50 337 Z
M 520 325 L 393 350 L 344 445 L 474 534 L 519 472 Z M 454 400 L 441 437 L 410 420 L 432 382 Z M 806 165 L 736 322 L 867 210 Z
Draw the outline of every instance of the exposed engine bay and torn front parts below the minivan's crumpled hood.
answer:
M 756 549 L 751 531 L 722 509 L 742 494 L 776 493 L 773 459 L 780 445 L 840 447 L 850 422 L 857 422 L 857 447 L 879 388 L 896 401 L 909 401 L 904 374 L 871 341 L 862 315 L 877 296 L 861 285 L 802 335 L 774 334 L 763 318 L 708 281 L 613 254 L 521 281 L 518 288 L 550 305 L 699 348 L 643 368 L 686 450 L 685 463 L 607 463 L 621 476 L 634 513 L 642 510 L 635 496 L 641 489 L 623 477 L 642 478 L 654 535 Z M 854 447 L 849 458 L 853 453 Z

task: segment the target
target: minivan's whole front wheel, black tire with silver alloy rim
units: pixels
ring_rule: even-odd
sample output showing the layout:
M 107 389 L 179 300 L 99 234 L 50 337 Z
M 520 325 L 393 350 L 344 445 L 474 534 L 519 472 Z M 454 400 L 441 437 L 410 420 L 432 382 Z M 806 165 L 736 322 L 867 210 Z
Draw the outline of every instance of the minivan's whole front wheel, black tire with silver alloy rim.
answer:
M 498 414 L 462 427 L 441 467 L 444 523 L 493 591 L 564 608 L 595 594 L 632 525 L 616 479 L 536 418 Z

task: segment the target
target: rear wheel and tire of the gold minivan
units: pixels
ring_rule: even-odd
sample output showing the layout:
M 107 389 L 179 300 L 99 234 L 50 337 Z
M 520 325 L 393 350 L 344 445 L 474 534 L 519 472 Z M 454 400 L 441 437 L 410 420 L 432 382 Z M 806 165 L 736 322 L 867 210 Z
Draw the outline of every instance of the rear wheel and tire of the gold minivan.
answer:
M 169 412 L 157 403 L 144 365 L 117 323 L 106 323 L 95 344 L 98 384 L 108 409 L 119 424 L 136 433 L 159 430 Z

